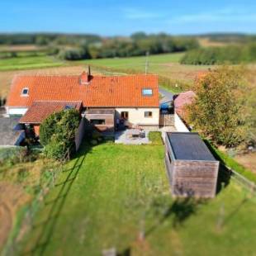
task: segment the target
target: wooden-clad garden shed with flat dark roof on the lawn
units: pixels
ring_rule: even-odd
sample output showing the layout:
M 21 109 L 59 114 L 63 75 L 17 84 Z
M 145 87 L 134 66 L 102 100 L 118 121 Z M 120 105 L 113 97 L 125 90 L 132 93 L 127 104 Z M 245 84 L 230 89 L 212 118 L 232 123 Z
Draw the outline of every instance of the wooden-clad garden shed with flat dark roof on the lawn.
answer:
M 197 133 L 167 133 L 165 166 L 174 197 L 215 197 L 219 161 Z

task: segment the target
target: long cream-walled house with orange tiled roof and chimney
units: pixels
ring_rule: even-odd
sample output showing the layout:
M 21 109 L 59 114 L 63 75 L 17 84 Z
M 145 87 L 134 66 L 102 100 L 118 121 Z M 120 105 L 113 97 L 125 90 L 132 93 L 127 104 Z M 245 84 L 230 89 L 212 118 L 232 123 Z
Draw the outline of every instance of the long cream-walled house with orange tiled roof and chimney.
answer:
M 114 130 L 116 119 L 127 126 L 159 126 L 158 76 L 101 76 L 83 72 L 70 76 L 16 76 L 7 97 L 8 116 L 39 126 L 47 116 L 77 108 L 99 130 Z

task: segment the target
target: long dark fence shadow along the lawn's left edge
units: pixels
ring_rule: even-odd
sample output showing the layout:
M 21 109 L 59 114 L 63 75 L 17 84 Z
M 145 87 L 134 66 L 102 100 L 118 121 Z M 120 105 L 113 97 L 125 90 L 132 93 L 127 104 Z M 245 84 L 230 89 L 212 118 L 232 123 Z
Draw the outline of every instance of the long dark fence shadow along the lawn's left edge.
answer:
M 64 178 L 64 182 L 55 184 L 55 188 L 58 189 L 57 195 L 53 200 L 47 201 L 47 197 L 45 200 L 45 206 L 41 209 L 44 211 L 44 207 L 50 206 L 50 211 L 45 217 L 44 221 L 36 223 L 33 225 L 33 230 L 31 232 L 36 232 L 36 229 L 41 229 L 39 235 L 37 235 L 36 243 L 29 251 L 24 251 L 22 255 L 26 254 L 39 254 L 43 255 L 45 253 L 45 249 L 47 245 L 50 243 L 50 239 L 55 231 L 55 225 L 61 214 L 61 211 L 64 206 L 64 202 L 69 195 L 70 189 L 73 185 L 75 178 L 78 176 L 78 172 L 80 168 L 83 166 L 83 161 L 86 155 L 91 151 L 91 147 L 89 145 L 82 145 L 81 149 L 75 154 L 75 162 L 73 167 L 69 167 L 63 171 L 67 176 Z M 54 188 L 54 189 L 55 189 Z M 51 193 L 51 192 L 50 192 Z M 47 211 L 47 210 L 46 210 Z M 32 239 L 33 240 L 33 239 Z M 26 241 L 26 244 L 31 243 L 31 240 Z

